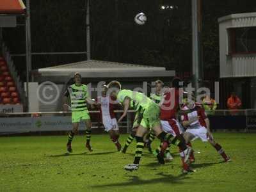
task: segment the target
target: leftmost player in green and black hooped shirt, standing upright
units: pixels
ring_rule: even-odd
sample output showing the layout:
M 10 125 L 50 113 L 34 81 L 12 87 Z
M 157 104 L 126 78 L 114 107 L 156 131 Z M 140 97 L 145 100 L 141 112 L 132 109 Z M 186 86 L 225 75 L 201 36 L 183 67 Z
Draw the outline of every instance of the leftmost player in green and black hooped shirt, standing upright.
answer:
M 74 75 L 74 81 L 75 83 L 71 86 L 68 86 L 65 96 L 63 98 L 63 108 L 64 111 L 68 111 L 68 97 L 70 97 L 70 103 L 71 103 L 71 111 L 72 111 L 72 131 L 68 133 L 68 142 L 67 142 L 67 153 L 72 152 L 71 143 L 74 138 L 74 135 L 78 131 L 79 122 L 81 120 L 84 121 L 86 124 L 86 148 L 90 152 L 92 152 L 92 147 L 90 145 L 91 140 L 91 127 L 92 123 L 90 120 L 90 115 L 87 109 L 87 103 L 88 104 L 96 104 L 90 97 L 88 97 L 88 88 L 85 84 L 81 83 L 82 77 L 79 73 L 75 73 Z

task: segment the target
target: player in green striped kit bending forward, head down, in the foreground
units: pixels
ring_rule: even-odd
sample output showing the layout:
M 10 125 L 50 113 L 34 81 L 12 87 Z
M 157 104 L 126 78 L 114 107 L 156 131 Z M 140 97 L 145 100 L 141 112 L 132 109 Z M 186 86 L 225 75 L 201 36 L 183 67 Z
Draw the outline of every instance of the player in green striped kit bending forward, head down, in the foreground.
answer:
M 186 161 L 188 161 L 191 148 L 186 147 L 186 143 L 181 143 L 172 134 L 163 132 L 161 129 L 161 123 L 159 119 L 160 108 L 159 106 L 149 99 L 146 95 L 139 92 L 132 92 L 131 90 L 121 90 L 121 84 L 118 81 L 111 81 L 108 84 L 109 92 L 113 99 L 117 99 L 121 104 L 124 105 L 124 113 L 120 116 L 118 122 L 127 115 L 127 111 L 133 102 L 134 108 L 136 109 L 136 115 L 138 115 L 138 129 L 136 131 L 136 152 L 133 164 L 127 164 L 124 166 L 125 170 L 138 170 L 140 159 L 142 156 L 144 141 L 143 136 L 148 132 L 148 129 L 154 130 L 157 138 L 164 142 L 164 146 L 169 143 L 174 145 L 183 145 L 184 156 Z M 163 148 L 164 149 L 164 148 Z M 161 154 L 157 155 L 159 163 L 164 164 L 164 159 Z

